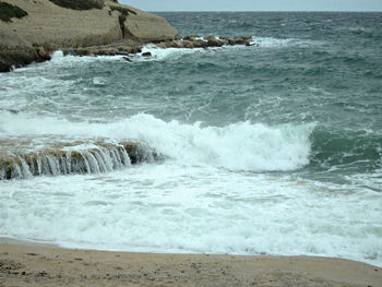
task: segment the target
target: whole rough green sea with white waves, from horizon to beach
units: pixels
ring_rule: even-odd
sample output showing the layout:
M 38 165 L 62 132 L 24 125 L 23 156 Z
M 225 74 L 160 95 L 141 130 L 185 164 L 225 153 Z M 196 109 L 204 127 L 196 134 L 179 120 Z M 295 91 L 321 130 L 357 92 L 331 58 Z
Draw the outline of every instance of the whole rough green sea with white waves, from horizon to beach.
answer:
M 382 266 L 382 13 L 159 14 L 253 45 L 147 45 L 131 62 L 57 51 L 1 73 L 3 154 L 135 141 L 160 156 L 3 178 L 0 237 Z

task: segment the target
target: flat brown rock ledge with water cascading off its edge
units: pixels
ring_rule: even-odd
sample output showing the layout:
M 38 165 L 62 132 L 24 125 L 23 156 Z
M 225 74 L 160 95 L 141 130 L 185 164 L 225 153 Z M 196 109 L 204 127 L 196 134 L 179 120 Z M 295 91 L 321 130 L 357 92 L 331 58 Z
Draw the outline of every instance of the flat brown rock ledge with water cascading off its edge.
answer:
M 1 142 L 3 146 L 13 144 L 11 141 Z M 43 151 L 0 152 L 0 180 L 107 172 L 159 157 L 154 151 L 136 142 L 58 143 Z

